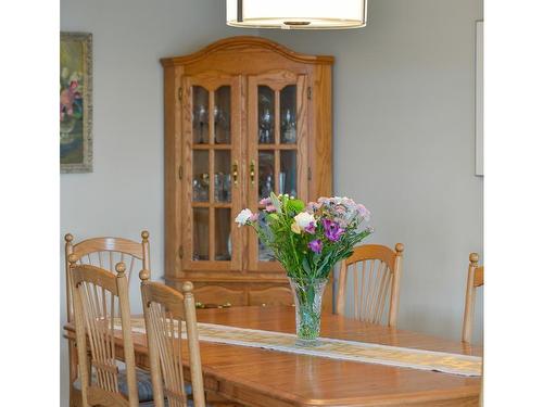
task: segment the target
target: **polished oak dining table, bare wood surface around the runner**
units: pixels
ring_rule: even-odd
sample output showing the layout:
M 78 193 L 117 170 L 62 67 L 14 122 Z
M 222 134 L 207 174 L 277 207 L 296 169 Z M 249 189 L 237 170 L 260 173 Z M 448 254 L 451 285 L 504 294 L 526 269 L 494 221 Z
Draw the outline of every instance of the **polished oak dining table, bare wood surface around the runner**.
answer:
M 199 309 L 198 321 L 295 332 L 294 308 Z M 73 326 L 66 336 L 74 339 Z M 324 314 L 321 336 L 481 356 L 467 343 Z M 137 365 L 148 369 L 143 333 L 132 333 Z M 121 332 L 118 346 L 122 347 Z M 119 349 L 122 353 L 122 349 Z M 200 342 L 204 386 L 242 406 L 478 406 L 481 379 L 239 345 Z M 187 361 L 187 357 L 184 363 Z M 186 376 L 189 377 L 189 376 Z

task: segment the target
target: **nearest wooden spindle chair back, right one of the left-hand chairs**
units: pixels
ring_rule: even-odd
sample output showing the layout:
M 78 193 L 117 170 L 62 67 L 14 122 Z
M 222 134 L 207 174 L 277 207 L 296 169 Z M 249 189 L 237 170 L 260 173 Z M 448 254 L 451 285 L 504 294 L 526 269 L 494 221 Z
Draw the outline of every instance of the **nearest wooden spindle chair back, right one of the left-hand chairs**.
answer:
M 140 278 L 155 406 L 164 406 L 164 396 L 169 407 L 187 406 L 181 355 L 182 343 L 188 342 L 194 406 L 204 407 L 192 283 L 185 282 L 181 294 L 165 284 L 149 281 L 148 270 L 141 270 Z M 184 325 L 187 341 L 181 341 Z

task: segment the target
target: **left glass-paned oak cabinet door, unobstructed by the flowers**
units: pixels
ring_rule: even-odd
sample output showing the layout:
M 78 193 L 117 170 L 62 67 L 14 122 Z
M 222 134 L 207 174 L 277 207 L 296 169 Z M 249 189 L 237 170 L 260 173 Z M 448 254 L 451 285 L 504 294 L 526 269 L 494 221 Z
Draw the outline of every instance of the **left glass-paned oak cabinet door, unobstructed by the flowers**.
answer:
M 190 202 L 184 218 L 185 269 L 239 269 L 239 78 L 185 78 L 182 154 Z M 185 180 L 185 179 L 184 179 Z M 189 205 L 187 205 L 189 206 Z M 235 250 L 236 247 L 236 250 Z

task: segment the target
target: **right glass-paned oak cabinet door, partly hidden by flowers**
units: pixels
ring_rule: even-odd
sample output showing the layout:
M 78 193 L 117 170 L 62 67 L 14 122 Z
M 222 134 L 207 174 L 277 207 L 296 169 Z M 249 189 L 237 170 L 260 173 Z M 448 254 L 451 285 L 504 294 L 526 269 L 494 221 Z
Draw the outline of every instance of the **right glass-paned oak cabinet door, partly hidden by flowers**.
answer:
M 283 71 L 249 77 L 248 204 L 252 211 L 263 208 L 260 202 L 272 192 L 306 200 L 306 98 L 303 75 Z M 249 252 L 250 270 L 281 270 L 254 233 Z

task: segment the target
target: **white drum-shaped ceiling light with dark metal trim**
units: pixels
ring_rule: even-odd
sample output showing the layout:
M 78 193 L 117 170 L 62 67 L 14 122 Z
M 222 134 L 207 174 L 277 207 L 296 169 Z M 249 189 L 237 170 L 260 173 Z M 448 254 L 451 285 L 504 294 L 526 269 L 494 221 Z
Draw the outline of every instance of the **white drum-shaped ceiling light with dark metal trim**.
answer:
M 345 29 L 366 26 L 367 0 L 226 0 L 226 24 L 244 28 Z

